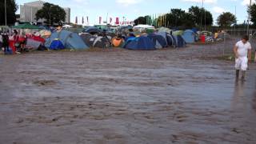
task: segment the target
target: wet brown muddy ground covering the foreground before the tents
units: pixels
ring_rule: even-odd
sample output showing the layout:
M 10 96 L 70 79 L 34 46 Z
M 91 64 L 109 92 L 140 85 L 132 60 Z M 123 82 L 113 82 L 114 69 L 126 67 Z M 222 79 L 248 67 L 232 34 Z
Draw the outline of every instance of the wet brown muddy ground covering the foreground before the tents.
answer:
M 254 144 L 256 64 L 222 48 L 0 55 L 0 143 Z

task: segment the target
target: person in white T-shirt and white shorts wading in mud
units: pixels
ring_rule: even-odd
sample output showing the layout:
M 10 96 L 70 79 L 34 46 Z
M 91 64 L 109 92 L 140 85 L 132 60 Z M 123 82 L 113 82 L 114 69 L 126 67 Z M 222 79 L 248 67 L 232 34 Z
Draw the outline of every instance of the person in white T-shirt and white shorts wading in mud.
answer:
M 236 78 L 239 78 L 242 72 L 242 81 L 246 78 L 246 70 L 248 67 L 248 58 L 251 59 L 251 46 L 248 35 L 242 37 L 242 40 L 234 46 Z

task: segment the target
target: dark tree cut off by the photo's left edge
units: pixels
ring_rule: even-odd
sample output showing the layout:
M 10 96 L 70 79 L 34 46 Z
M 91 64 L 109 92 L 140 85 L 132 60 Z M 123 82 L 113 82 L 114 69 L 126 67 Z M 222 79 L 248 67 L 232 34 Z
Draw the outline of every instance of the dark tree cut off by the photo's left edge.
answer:
M 15 0 L 6 0 L 6 15 L 5 17 L 5 1 L 0 1 L 0 25 L 5 25 L 6 20 L 8 25 L 14 24 L 16 22 L 15 12 L 18 10 L 18 6 Z

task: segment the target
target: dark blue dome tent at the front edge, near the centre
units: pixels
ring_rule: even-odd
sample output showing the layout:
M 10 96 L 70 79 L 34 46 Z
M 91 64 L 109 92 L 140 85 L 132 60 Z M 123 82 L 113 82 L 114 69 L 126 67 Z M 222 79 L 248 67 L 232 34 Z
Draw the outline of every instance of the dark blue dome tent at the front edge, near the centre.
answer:
M 156 50 L 154 43 L 145 36 L 138 38 L 129 38 L 123 48 L 128 50 Z

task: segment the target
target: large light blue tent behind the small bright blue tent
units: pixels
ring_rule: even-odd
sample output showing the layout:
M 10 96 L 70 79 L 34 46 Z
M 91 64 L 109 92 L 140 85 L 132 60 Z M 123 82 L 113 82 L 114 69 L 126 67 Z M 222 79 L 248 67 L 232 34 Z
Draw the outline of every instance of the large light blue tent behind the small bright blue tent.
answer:
M 89 48 L 78 34 L 67 30 L 61 30 L 60 32 L 51 34 L 50 38 L 46 40 L 46 47 L 50 48 L 50 44 L 56 39 L 60 40 L 63 46 L 68 49 L 82 50 Z

